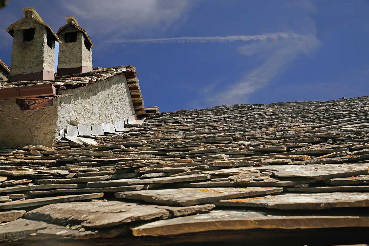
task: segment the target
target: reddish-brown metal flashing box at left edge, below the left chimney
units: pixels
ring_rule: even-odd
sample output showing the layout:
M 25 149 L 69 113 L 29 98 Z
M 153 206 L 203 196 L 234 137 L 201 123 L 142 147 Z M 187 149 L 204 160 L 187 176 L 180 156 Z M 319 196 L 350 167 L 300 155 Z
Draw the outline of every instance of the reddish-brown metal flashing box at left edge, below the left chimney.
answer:
M 0 88 L 0 100 L 56 95 L 52 83 Z

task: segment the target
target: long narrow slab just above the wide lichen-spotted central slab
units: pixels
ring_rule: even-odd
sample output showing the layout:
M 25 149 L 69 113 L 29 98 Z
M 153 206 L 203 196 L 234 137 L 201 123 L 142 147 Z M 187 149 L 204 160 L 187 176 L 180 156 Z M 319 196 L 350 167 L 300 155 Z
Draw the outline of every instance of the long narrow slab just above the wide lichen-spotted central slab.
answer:
M 109 180 L 109 181 L 101 181 L 101 182 L 89 182 L 87 183 L 87 188 L 91 187 L 114 187 L 114 186 L 128 186 L 128 185 L 137 185 L 137 184 L 168 184 L 168 183 L 176 183 L 176 182 L 190 182 L 197 180 L 208 180 L 210 179 L 210 175 L 207 174 L 194 174 L 194 175 L 186 175 L 186 176 L 178 176 L 178 177 L 163 177 L 163 178 L 148 178 L 142 180 Z

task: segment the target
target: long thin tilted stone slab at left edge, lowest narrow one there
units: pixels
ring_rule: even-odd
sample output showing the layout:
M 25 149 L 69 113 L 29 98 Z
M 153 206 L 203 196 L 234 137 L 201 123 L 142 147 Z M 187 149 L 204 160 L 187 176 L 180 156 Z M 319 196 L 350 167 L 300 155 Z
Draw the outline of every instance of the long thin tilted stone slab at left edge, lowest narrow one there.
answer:
M 67 195 L 67 196 L 61 196 L 61 197 L 33 198 L 33 199 L 27 199 L 23 201 L 5 202 L 3 204 L 0 204 L 0 209 L 24 208 L 28 206 L 38 206 L 38 205 L 52 204 L 52 203 L 58 203 L 58 202 L 86 200 L 86 199 L 100 198 L 100 197 L 103 197 L 103 195 L 104 193 L 93 193 L 93 194 L 83 194 L 83 195 Z

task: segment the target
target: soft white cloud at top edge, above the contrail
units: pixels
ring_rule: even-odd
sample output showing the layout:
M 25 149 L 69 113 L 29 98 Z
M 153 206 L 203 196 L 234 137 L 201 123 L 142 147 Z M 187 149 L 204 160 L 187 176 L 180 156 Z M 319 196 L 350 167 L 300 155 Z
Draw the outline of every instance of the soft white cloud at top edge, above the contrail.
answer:
M 191 0 L 65 0 L 63 7 L 75 15 L 90 34 L 149 35 L 166 30 L 184 17 Z M 80 21 L 81 20 L 81 21 Z M 105 38 L 104 38 L 105 39 Z

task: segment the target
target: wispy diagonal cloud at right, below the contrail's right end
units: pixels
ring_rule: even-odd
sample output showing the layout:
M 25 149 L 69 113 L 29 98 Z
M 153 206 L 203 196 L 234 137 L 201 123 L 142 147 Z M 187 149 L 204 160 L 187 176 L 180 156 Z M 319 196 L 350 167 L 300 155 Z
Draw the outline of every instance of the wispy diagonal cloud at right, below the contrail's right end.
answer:
M 247 96 L 268 85 L 279 74 L 286 71 L 290 64 L 301 54 L 308 55 L 320 47 L 321 42 L 315 35 L 289 35 L 288 37 L 263 39 L 238 48 L 241 54 L 257 55 L 262 59 L 261 65 L 246 72 L 241 79 L 231 85 L 228 90 L 215 92 L 208 96 L 206 103 L 232 105 L 246 103 Z

